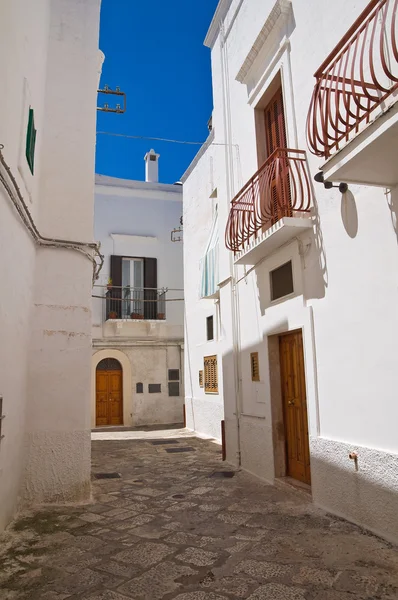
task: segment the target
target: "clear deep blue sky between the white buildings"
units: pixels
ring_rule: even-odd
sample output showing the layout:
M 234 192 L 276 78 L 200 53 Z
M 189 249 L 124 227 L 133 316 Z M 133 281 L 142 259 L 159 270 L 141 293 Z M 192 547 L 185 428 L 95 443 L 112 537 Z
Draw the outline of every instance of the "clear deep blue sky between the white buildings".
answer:
M 212 111 L 210 50 L 203 46 L 218 0 L 102 0 L 101 87 L 118 85 L 127 112 L 98 112 L 98 131 L 204 141 Z M 105 97 L 99 96 L 103 104 Z M 111 103 L 112 97 L 109 99 Z M 178 181 L 199 146 L 97 135 L 96 172 L 144 179 L 154 148 L 159 180 Z

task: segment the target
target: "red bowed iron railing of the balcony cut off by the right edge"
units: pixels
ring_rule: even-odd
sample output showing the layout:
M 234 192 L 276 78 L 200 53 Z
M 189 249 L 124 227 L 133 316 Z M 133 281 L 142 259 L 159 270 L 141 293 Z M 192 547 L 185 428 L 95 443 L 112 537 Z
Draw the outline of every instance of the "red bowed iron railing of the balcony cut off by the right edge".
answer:
M 307 118 L 311 152 L 329 158 L 398 88 L 398 0 L 372 0 L 319 67 Z

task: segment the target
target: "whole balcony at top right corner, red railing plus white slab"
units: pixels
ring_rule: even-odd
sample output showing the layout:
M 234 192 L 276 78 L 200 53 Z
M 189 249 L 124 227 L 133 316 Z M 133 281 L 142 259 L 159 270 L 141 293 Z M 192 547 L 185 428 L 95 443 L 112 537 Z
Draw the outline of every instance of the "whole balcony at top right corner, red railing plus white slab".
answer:
M 372 0 L 315 73 L 307 141 L 324 177 L 398 183 L 398 0 Z

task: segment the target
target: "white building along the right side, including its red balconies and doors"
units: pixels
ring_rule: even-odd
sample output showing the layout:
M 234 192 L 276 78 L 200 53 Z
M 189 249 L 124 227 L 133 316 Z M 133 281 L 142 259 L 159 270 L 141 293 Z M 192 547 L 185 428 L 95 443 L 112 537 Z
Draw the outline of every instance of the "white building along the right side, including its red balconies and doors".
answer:
M 183 177 L 188 427 L 394 541 L 396 4 L 221 0 Z

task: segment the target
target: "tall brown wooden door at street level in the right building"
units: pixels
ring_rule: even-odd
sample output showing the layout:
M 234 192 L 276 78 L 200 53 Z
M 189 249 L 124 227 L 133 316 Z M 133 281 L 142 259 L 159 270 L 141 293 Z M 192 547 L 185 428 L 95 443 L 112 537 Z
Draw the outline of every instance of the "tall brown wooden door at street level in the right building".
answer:
M 287 475 L 311 483 L 303 338 L 301 331 L 279 339 Z

